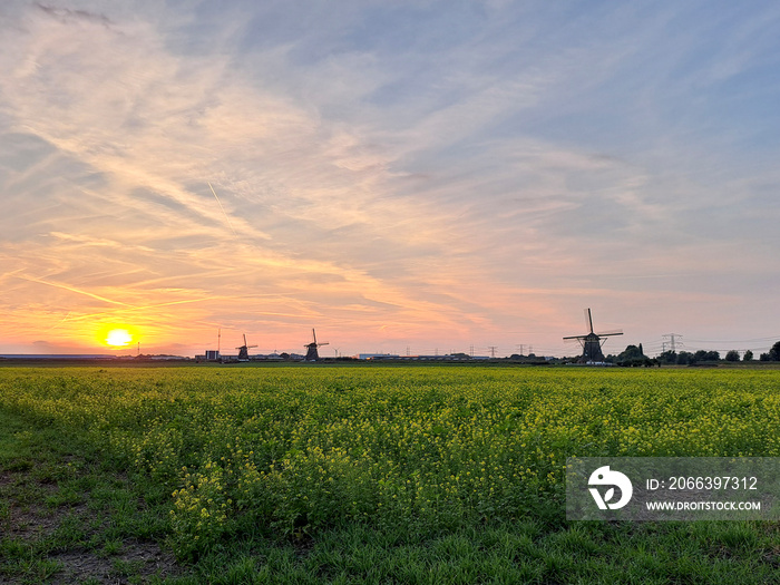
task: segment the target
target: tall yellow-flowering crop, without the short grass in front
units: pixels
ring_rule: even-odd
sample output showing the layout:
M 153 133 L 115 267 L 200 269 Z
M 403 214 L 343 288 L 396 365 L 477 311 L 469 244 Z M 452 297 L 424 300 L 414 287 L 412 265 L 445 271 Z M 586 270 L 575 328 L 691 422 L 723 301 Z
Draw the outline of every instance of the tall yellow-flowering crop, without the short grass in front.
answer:
M 3 368 L 0 409 L 162 486 L 182 559 L 246 535 L 562 529 L 568 456 L 780 456 L 780 371 Z

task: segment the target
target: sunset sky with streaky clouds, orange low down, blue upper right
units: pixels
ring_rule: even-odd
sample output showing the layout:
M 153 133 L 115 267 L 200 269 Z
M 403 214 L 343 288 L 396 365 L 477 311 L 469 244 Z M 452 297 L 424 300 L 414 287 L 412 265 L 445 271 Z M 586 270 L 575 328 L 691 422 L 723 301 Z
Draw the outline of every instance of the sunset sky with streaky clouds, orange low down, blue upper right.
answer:
M 3 0 L 0 353 L 575 355 L 586 308 L 605 353 L 768 351 L 778 29 L 773 1 Z

